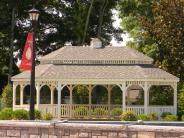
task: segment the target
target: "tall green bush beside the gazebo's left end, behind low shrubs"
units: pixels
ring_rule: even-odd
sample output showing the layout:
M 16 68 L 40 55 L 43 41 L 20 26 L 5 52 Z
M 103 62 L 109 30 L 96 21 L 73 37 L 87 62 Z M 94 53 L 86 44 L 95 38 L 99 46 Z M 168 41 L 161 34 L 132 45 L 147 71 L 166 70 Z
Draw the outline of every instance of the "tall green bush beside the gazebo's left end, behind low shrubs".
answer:
M 2 93 L 2 104 L 3 107 L 12 107 L 13 90 L 12 85 L 8 84 L 4 87 Z

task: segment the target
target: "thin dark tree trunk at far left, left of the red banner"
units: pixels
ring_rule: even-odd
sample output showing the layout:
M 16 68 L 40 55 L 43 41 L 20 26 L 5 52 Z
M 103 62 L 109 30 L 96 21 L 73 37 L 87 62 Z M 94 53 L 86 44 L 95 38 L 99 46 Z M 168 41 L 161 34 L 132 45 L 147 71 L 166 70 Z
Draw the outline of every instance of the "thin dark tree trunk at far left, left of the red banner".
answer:
M 15 28 L 15 6 L 12 9 L 12 20 L 11 20 L 11 38 L 10 38 L 10 62 L 9 62 L 9 74 L 8 83 L 11 83 L 11 77 L 13 72 L 13 41 L 14 41 L 14 28 Z

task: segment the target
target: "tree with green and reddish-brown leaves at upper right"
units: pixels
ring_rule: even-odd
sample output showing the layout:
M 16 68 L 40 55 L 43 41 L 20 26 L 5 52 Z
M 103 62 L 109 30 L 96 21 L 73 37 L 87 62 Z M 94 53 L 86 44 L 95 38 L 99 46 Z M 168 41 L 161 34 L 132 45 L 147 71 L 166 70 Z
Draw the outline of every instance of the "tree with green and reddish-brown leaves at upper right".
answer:
M 122 28 L 134 38 L 129 46 L 153 57 L 154 64 L 184 80 L 184 2 L 124 0 Z

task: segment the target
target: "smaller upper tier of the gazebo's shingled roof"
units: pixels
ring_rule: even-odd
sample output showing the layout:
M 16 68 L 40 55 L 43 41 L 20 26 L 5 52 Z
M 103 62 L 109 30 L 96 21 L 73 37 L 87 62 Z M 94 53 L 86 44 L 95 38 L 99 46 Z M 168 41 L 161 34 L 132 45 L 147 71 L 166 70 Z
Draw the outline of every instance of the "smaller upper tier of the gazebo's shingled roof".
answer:
M 114 63 L 114 61 L 117 61 L 116 64 L 151 64 L 153 62 L 153 59 L 128 47 L 106 46 L 105 48 L 93 48 L 90 46 L 65 46 L 42 57 L 40 61 L 44 64 L 68 64 L 72 62 L 78 63 L 77 61 L 83 61 L 80 62 L 80 64 L 107 63 L 100 61 L 110 61 L 109 63 L 111 64 Z

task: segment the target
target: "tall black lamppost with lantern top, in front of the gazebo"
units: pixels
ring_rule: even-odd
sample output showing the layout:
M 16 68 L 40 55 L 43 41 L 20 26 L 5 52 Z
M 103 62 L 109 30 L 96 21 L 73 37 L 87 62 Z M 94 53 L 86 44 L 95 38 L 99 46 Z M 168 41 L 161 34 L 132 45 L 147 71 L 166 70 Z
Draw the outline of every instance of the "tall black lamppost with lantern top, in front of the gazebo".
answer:
M 35 104 L 35 33 L 36 33 L 36 26 L 38 22 L 38 17 L 40 15 L 40 12 L 33 8 L 29 10 L 29 17 L 32 23 L 32 34 L 33 34 L 33 48 L 32 48 L 32 69 L 31 69 L 31 79 L 30 79 L 30 108 L 29 108 L 29 119 L 34 120 L 35 114 L 34 114 L 34 104 Z

